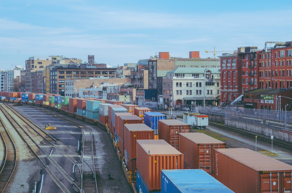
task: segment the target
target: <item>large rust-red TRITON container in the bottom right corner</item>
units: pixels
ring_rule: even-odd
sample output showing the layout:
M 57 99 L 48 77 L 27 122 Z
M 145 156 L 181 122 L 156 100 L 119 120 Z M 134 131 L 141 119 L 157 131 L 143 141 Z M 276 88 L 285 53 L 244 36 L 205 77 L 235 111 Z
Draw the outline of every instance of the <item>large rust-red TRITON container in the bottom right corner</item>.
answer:
M 246 148 L 217 149 L 215 156 L 215 178 L 234 192 L 291 190 L 291 165 Z

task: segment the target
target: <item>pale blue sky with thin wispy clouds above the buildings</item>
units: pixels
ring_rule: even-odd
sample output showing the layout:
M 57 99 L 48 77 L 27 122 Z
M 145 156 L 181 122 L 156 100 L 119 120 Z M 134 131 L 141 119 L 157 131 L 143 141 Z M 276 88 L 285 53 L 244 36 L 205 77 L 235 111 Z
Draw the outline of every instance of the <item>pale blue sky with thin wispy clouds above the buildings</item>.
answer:
M 109 66 L 292 41 L 291 1 L 0 1 L 0 69 L 63 55 Z M 268 45 L 269 46 L 269 45 Z M 273 45 L 272 45 L 273 46 Z M 222 55 L 222 52 L 217 52 Z

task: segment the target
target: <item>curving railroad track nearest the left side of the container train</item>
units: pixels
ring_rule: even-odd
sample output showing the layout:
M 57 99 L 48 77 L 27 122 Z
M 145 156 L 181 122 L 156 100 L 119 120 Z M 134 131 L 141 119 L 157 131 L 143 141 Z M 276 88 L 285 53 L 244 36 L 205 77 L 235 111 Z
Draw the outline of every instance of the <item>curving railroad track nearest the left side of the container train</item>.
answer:
M 31 106 L 33 108 L 36 108 L 44 113 L 47 113 L 49 115 L 52 115 L 54 117 L 58 117 L 58 119 L 70 122 L 70 124 L 75 125 L 76 127 L 79 127 L 83 131 L 83 150 L 82 150 L 82 157 L 81 157 L 81 190 L 84 192 L 98 192 L 98 184 L 101 182 L 97 180 L 97 176 L 99 174 L 99 171 L 95 168 L 95 160 L 94 160 L 94 140 L 93 140 L 93 134 L 92 131 L 85 127 L 82 124 L 79 124 L 77 122 L 74 122 L 70 119 L 67 119 L 63 116 L 56 115 L 55 113 L 52 113 L 48 110 L 44 110 L 44 108 Z

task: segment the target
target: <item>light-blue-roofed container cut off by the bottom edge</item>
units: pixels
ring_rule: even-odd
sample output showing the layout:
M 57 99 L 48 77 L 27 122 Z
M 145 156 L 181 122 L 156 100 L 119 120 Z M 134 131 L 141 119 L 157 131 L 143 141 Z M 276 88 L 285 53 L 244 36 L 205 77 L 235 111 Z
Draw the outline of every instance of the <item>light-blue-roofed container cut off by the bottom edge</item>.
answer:
M 233 191 L 201 169 L 161 170 L 161 193 L 170 192 L 232 193 Z

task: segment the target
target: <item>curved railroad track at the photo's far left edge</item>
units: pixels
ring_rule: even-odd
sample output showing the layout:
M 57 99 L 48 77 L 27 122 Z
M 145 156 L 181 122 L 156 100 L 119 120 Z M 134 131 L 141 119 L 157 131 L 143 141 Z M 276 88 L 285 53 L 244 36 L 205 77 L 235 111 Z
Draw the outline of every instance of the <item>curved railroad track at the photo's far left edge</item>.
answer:
M 1 115 L 1 114 L 0 114 Z M 2 116 L 1 116 L 2 117 Z M 4 146 L 4 159 L 0 165 L 0 191 L 5 192 L 6 187 L 15 171 L 16 167 L 16 147 L 10 137 L 9 133 L 7 132 L 6 128 L 4 127 L 4 123 L 2 119 L 0 119 L 0 133 L 1 133 L 1 141 Z

